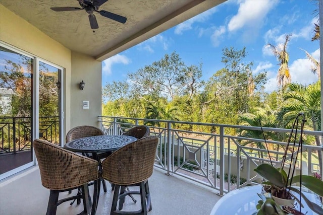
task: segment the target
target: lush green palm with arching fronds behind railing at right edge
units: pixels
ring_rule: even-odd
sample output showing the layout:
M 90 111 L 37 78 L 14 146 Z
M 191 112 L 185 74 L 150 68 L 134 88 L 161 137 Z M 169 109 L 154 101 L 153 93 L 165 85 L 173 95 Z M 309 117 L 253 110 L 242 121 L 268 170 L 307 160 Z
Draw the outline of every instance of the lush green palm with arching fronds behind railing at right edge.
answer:
M 292 123 L 297 114 L 303 112 L 313 130 L 321 130 L 320 116 L 320 81 L 308 87 L 300 84 L 289 84 L 283 94 L 284 104 L 278 113 L 278 118 L 285 126 Z M 316 146 L 321 146 L 319 136 L 315 136 Z M 322 175 L 322 152 L 317 151 L 320 173 Z

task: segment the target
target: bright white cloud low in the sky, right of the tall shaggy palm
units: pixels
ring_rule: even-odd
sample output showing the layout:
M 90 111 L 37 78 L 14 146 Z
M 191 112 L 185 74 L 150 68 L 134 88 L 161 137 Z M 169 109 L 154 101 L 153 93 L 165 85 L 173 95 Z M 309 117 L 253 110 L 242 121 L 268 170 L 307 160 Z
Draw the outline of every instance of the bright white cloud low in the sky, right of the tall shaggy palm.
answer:
M 293 83 L 309 85 L 318 81 L 317 75 L 311 72 L 311 62 L 306 58 L 300 58 L 289 66 Z

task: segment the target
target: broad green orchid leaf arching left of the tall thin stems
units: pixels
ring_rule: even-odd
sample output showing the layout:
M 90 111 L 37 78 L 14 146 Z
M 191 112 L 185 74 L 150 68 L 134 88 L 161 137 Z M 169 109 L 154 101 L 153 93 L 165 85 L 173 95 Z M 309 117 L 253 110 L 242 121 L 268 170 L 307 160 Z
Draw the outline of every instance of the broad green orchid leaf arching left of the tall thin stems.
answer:
M 285 186 L 283 175 L 269 164 L 260 164 L 254 171 L 278 187 Z

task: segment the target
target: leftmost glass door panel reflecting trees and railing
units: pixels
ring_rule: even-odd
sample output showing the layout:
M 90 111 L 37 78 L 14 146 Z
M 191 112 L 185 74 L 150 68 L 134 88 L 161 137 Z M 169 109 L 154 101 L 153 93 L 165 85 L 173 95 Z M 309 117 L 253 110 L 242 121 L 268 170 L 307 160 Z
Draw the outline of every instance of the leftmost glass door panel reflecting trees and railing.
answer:
M 34 59 L 0 47 L 0 175 L 33 161 Z

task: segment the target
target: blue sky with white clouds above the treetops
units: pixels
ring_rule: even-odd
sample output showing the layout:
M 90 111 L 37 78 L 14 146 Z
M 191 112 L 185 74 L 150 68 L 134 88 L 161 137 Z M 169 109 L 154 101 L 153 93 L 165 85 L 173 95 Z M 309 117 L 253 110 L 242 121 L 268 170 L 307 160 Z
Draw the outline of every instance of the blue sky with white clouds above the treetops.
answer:
M 127 74 L 176 51 L 186 65 L 202 62 L 202 79 L 207 81 L 224 67 L 222 50 L 246 47 L 245 62 L 254 62 L 253 73 L 265 69 L 265 91 L 277 89 L 278 61 L 267 44 L 288 43 L 292 82 L 311 84 L 318 80 L 310 71 L 311 62 L 302 49 L 319 60 L 319 42 L 311 41 L 317 22 L 312 0 L 229 0 L 162 32 L 102 62 L 102 86 L 127 81 Z

